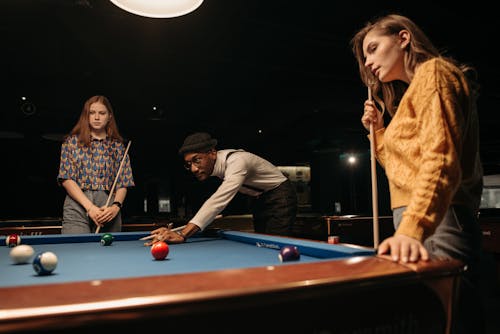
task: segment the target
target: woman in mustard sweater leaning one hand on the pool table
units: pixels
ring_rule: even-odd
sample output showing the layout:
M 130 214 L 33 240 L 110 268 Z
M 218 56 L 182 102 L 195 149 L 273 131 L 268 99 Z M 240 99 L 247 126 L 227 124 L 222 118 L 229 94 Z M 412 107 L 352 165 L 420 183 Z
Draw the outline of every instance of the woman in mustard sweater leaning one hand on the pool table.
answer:
M 472 287 L 481 252 L 477 213 L 483 188 L 475 72 L 441 55 L 401 15 L 367 23 L 351 45 L 373 96 L 364 103 L 361 122 L 367 130 L 373 124 L 394 217 L 395 233 L 381 242 L 378 254 L 401 262 L 462 260 Z M 387 126 L 384 111 L 391 116 Z M 480 333 L 480 325 L 472 321 L 460 328 Z

